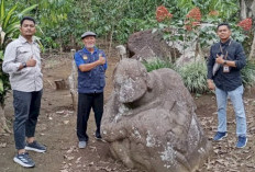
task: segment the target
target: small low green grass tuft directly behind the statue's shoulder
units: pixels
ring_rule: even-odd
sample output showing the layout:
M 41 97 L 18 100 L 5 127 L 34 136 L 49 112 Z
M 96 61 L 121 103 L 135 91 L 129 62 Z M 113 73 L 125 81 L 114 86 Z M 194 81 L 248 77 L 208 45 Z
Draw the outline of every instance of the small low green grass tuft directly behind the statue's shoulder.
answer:
M 162 60 L 159 58 L 156 58 L 156 60 L 153 60 L 153 61 L 149 61 L 149 62 L 145 61 L 145 62 L 143 62 L 143 65 L 147 69 L 147 72 L 156 70 L 156 69 L 160 69 L 160 68 L 170 68 L 170 69 L 175 68 L 171 62 L 164 61 L 164 60 Z

